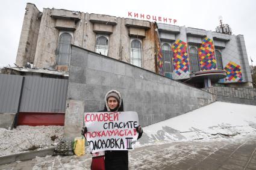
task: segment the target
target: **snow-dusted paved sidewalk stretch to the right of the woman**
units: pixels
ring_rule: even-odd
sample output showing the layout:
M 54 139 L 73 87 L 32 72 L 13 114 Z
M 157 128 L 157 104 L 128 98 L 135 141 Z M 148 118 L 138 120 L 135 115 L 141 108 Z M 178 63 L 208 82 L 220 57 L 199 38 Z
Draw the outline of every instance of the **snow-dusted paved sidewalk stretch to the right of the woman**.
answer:
M 256 137 L 137 148 L 131 169 L 256 169 Z

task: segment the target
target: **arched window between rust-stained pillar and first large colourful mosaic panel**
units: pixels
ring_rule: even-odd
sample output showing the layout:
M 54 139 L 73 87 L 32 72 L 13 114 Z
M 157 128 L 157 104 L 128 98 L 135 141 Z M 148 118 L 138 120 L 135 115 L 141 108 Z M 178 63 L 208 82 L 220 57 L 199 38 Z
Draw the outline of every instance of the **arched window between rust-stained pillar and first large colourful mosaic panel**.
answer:
M 162 50 L 164 73 L 172 72 L 172 50 L 170 49 L 170 44 L 164 43 L 162 46 Z

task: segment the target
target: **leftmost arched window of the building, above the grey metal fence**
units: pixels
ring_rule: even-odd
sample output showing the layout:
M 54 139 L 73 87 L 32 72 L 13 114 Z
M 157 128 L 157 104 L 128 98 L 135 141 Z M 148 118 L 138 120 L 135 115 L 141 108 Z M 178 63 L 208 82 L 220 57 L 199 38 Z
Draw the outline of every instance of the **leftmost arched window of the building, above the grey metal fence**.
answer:
M 64 32 L 58 38 L 57 65 L 69 65 L 71 56 L 72 35 Z

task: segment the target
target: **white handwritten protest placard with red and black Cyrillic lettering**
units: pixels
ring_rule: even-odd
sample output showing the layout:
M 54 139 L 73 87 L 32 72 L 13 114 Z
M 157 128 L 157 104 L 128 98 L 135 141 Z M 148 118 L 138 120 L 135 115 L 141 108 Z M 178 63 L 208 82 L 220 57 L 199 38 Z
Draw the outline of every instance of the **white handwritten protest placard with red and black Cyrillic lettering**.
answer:
M 84 113 L 86 140 L 92 153 L 106 150 L 132 150 L 139 126 L 137 112 Z

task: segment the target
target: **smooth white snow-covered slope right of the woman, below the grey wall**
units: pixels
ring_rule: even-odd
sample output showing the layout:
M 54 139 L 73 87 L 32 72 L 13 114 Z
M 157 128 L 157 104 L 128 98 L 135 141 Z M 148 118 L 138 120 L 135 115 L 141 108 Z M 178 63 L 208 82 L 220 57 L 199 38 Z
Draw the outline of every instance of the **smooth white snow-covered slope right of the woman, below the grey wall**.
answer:
M 140 145 L 256 134 L 256 106 L 214 102 L 143 128 Z

